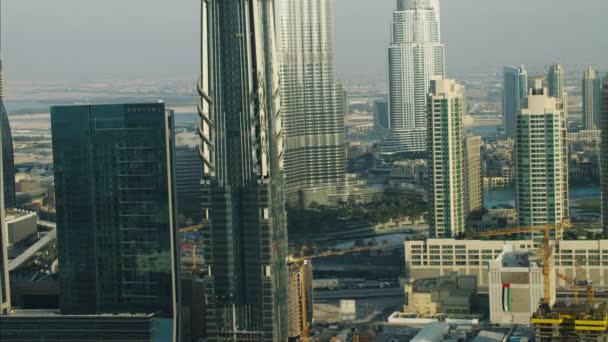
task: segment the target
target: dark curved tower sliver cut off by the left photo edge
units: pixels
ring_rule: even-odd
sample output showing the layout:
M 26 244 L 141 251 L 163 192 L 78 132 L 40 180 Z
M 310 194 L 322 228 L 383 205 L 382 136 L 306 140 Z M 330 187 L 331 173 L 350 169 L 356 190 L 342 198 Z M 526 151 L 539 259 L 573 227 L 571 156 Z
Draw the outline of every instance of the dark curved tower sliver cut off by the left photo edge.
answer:
M 0 3 L 0 7 L 1 7 Z M 2 11 L 0 10 L 0 16 Z M 1 21 L 0 21 L 0 26 Z M 2 34 L 0 30 L 0 133 L 2 134 L 2 172 L 4 180 L 4 206 L 14 208 L 17 205 L 15 197 L 15 159 L 13 155 L 13 136 L 8 121 L 8 112 L 4 105 L 4 69 L 2 63 Z

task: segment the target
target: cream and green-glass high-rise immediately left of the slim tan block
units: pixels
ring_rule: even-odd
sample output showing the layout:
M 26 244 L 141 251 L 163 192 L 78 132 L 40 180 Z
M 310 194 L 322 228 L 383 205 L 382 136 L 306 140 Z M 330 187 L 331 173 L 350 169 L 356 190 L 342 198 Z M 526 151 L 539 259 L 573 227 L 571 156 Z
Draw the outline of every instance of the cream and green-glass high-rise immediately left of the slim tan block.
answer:
M 428 94 L 429 224 L 431 237 L 465 229 L 463 160 L 464 89 L 454 80 L 432 80 Z

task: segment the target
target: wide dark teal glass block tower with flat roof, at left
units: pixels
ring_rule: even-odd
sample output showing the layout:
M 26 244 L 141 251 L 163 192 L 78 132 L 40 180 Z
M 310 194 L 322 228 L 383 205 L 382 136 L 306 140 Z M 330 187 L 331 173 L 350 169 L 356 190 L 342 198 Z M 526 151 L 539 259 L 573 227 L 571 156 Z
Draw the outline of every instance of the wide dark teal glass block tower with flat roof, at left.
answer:
M 58 106 L 51 129 L 62 314 L 158 313 L 177 341 L 172 113 Z

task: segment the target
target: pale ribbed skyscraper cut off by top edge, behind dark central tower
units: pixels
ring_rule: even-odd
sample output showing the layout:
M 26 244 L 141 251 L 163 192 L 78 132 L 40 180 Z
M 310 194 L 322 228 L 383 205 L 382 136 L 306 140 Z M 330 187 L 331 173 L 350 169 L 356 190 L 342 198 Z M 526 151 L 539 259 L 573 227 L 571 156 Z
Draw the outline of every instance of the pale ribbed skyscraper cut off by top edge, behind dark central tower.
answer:
M 325 204 L 346 171 L 342 87 L 334 79 L 333 0 L 275 0 L 285 195 Z

